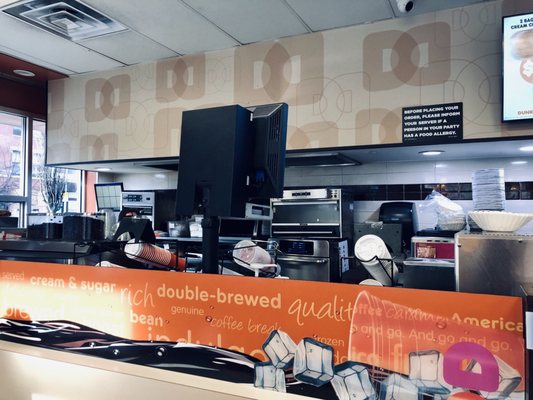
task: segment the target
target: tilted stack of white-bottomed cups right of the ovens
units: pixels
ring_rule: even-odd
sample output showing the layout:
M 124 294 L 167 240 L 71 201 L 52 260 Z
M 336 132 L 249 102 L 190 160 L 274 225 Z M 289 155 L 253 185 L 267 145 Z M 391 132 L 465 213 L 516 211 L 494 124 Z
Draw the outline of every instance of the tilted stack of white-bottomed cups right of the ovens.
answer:
M 354 253 L 368 273 L 385 286 L 398 281 L 398 267 L 379 236 L 364 235 L 355 242 Z M 392 279 L 391 279 L 392 278 Z

